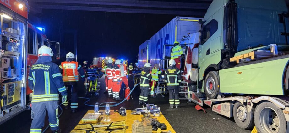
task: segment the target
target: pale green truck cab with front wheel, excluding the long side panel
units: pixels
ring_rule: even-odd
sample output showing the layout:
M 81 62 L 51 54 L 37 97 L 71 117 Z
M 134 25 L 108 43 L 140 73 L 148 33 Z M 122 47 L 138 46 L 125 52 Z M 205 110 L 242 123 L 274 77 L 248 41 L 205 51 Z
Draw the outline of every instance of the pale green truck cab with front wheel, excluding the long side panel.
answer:
M 198 90 L 206 92 L 208 98 L 216 98 L 222 87 L 219 70 L 237 65 L 230 58 L 258 49 L 268 50 L 264 47 L 270 44 L 288 50 L 288 8 L 282 0 L 215 0 L 199 23 L 202 29 L 196 82 Z M 281 48 L 283 45 L 285 48 Z M 207 84 L 210 72 L 212 82 Z

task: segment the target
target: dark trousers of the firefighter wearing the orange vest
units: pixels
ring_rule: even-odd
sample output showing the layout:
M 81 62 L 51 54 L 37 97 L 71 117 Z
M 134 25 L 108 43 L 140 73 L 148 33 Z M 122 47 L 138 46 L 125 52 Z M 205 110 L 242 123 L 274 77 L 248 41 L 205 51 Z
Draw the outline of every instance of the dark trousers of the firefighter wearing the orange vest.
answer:
M 77 102 L 77 82 L 64 82 L 65 86 L 68 88 L 67 99 L 70 99 L 70 108 L 71 110 L 77 110 L 78 102 Z M 68 106 L 68 101 L 63 103 L 64 106 Z

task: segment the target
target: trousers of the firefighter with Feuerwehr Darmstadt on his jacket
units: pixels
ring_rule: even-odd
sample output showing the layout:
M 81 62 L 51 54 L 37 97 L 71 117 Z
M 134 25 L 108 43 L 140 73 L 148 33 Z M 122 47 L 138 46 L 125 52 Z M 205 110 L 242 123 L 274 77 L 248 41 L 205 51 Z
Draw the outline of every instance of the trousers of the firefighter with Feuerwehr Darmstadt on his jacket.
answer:
M 30 133 L 41 133 L 45 122 L 46 110 L 51 130 L 59 130 L 58 101 L 35 102 L 32 103 L 34 117 Z

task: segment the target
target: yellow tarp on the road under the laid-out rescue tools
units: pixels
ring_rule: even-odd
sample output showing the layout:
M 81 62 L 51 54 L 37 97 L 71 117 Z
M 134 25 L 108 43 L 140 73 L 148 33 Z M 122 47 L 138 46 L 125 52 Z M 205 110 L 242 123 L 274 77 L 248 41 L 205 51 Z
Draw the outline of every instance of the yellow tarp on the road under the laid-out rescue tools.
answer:
M 89 110 L 86 112 L 87 113 L 93 113 L 93 110 Z M 110 111 L 110 115 L 104 115 L 104 110 L 100 110 L 99 111 L 102 115 L 100 116 L 100 120 L 98 123 L 107 123 L 107 122 L 120 122 L 120 121 L 125 121 L 125 133 L 131 133 L 132 132 L 132 124 L 134 123 L 134 120 L 139 120 L 141 121 L 143 115 L 132 115 L 131 114 L 131 110 L 126 110 L 126 116 L 123 117 L 121 115 L 119 115 L 119 113 L 114 112 L 114 111 Z M 175 130 L 172 128 L 172 126 L 170 125 L 170 123 L 166 120 L 165 116 L 160 114 L 160 116 L 154 116 L 152 118 L 156 118 L 156 120 L 158 120 L 160 123 L 165 123 L 167 129 L 166 130 L 162 130 L 164 132 L 166 131 L 171 131 L 172 133 L 175 133 Z M 87 124 L 87 123 L 83 123 L 81 120 L 78 123 L 80 124 Z M 75 130 L 77 129 L 77 127 L 79 127 L 79 125 L 77 125 L 74 130 L 72 130 L 72 133 L 86 133 L 85 130 Z M 106 130 L 102 130 L 99 132 L 104 132 L 104 133 L 122 133 L 124 130 L 116 130 L 116 131 L 106 131 Z M 91 131 L 91 133 L 94 133 L 93 131 Z M 153 131 L 153 133 L 157 133 L 157 131 Z

